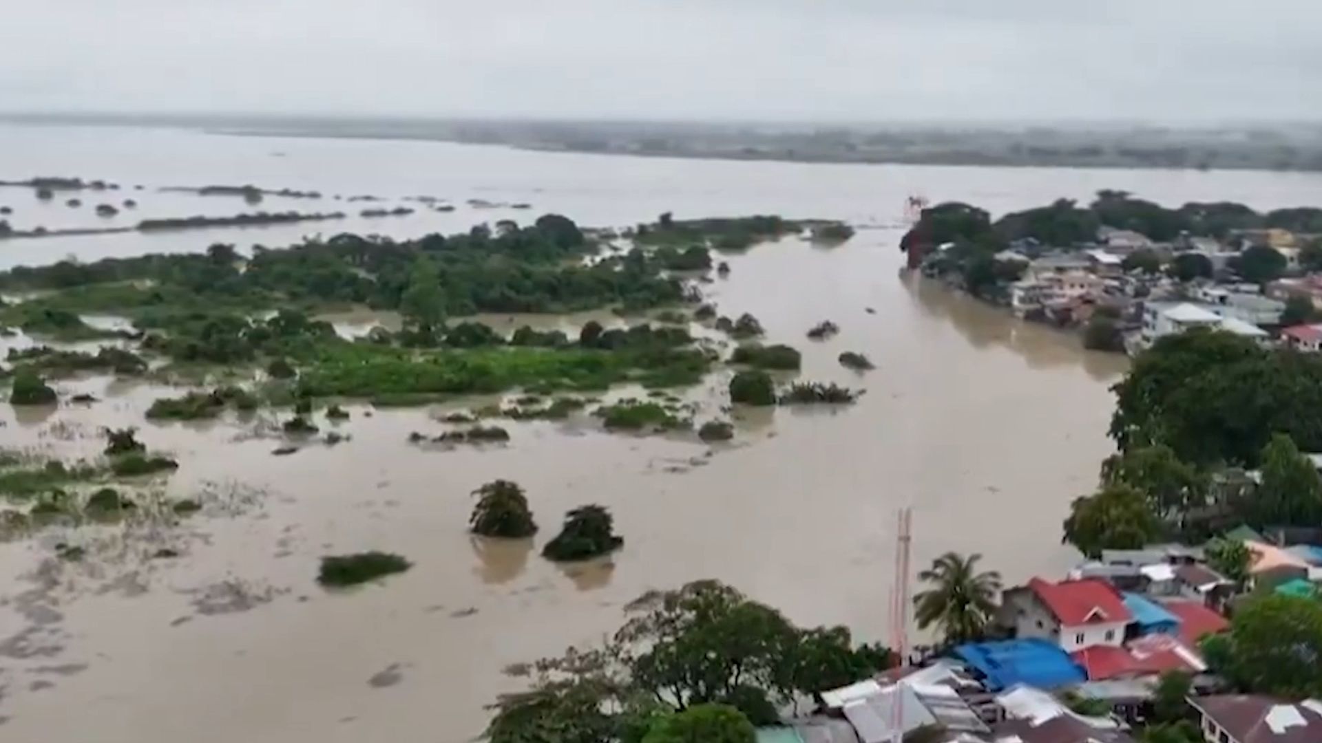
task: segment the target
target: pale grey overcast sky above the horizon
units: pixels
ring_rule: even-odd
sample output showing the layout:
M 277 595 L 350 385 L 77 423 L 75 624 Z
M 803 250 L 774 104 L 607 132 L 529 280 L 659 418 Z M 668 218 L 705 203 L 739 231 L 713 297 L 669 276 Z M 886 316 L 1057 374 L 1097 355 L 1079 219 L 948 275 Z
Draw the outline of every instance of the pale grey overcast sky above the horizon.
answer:
M 1322 0 L 3 5 L 5 111 L 1322 118 Z

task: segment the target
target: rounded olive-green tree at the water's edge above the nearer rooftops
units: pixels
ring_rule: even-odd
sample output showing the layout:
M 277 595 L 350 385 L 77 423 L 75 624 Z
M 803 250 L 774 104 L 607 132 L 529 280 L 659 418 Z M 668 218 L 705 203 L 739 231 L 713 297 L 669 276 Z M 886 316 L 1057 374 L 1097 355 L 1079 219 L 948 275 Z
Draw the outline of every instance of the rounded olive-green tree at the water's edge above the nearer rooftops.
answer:
M 1158 534 L 1157 517 L 1147 508 L 1147 498 L 1134 488 L 1118 484 L 1075 498 L 1062 541 L 1095 558 L 1101 550 L 1141 549 Z

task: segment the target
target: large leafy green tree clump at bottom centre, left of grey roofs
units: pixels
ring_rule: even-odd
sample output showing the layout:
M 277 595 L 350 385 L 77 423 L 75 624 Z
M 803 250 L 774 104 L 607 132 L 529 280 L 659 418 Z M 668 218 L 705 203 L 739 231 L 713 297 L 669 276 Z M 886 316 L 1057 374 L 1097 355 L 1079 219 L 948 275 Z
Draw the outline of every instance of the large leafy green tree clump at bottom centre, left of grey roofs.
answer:
M 605 646 L 538 661 L 531 689 L 493 705 L 492 743 L 670 743 L 686 731 L 702 736 L 681 740 L 742 743 L 748 723 L 777 722 L 777 706 L 892 661 L 884 648 L 855 648 L 843 627 L 796 627 L 714 580 L 648 592 L 625 616 Z

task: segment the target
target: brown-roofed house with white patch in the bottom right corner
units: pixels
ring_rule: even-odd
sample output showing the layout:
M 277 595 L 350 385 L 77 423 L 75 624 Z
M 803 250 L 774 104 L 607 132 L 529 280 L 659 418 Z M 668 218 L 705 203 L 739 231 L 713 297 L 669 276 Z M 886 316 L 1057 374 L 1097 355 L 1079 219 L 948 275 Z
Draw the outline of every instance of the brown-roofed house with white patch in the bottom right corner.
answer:
M 1190 697 L 1207 743 L 1318 743 L 1322 702 L 1297 705 L 1257 694 Z

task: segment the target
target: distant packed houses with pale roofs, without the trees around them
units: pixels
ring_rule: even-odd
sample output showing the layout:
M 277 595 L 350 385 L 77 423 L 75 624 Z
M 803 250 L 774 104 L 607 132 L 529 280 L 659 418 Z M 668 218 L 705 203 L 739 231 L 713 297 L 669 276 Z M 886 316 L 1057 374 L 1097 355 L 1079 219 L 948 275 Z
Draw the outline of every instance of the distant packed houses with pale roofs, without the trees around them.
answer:
M 1007 291 L 1015 316 L 1081 327 L 1093 313 L 1105 311 L 1118 319 L 1130 354 L 1162 336 L 1200 327 L 1318 352 L 1322 324 L 1281 325 L 1285 301 L 1292 296 L 1322 309 L 1322 275 L 1303 275 L 1300 263 L 1303 246 L 1318 237 L 1263 229 L 1232 231 L 1224 239 L 1181 235 L 1158 243 L 1130 230 L 1101 227 L 1091 246 L 1064 250 L 1026 239 L 995 259 L 1022 264 L 1022 278 Z M 1240 280 L 1233 274 L 1233 259 L 1255 246 L 1280 253 L 1285 275 L 1265 286 Z M 1163 264 L 1182 254 L 1202 255 L 1212 276 L 1179 282 L 1163 274 L 1125 271 L 1125 258 L 1137 251 L 1150 253 Z

